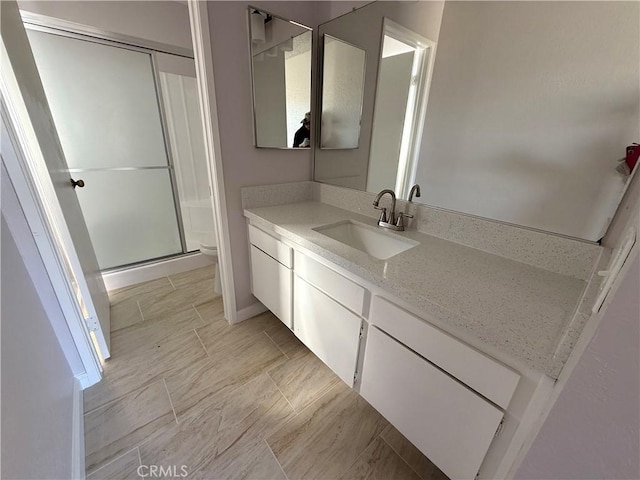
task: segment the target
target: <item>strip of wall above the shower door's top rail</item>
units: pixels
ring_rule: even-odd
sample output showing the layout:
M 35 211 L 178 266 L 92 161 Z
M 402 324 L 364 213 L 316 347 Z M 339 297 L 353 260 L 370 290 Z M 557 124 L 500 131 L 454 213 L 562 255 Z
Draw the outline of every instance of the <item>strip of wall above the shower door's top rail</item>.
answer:
M 192 49 L 186 2 L 29 1 L 20 9 L 154 42 Z

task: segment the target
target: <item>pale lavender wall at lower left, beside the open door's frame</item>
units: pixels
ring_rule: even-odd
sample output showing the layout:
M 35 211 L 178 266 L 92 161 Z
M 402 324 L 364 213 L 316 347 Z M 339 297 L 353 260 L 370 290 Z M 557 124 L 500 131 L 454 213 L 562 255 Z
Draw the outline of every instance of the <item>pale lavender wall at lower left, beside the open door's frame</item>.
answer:
M 6 191 L 3 188 L 3 200 Z M 16 214 L 21 212 L 6 212 L 5 202 L 2 208 L 1 476 L 68 479 L 72 472 L 74 382 L 69 359 L 75 359 L 75 370 L 81 363 L 71 339 L 60 343 L 56 336 L 64 335 L 66 324 L 53 288 L 39 283 L 36 289 L 25 266 L 25 262 L 30 262 L 32 269 L 39 265 L 40 278 L 46 278 L 26 220 L 22 217 L 22 231 L 28 236 L 14 238 L 15 225 L 11 231 L 5 216 L 10 214 L 15 224 Z M 25 249 L 28 257 L 23 259 Z M 70 337 L 68 330 L 66 337 Z

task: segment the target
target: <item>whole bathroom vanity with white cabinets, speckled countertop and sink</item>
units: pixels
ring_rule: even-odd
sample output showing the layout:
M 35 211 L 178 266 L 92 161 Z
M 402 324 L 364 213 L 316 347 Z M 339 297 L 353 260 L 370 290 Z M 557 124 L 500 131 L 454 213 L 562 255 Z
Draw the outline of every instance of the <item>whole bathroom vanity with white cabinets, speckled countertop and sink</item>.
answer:
M 306 200 L 245 208 L 254 295 L 449 477 L 507 476 L 586 279 Z M 527 250 L 534 232 L 516 233 Z M 600 247 L 574 243 L 593 270 Z

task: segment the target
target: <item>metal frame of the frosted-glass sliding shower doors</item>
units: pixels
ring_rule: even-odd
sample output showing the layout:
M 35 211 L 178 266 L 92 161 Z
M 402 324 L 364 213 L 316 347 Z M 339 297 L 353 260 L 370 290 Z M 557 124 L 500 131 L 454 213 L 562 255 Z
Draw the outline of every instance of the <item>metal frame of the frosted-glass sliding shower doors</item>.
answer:
M 139 171 L 139 170 L 164 170 L 169 173 L 169 180 L 171 184 L 171 193 L 173 197 L 173 204 L 176 214 L 176 220 L 178 224 L 178 234 L 180 237 L 181 252 L 164 255 L 161 257 L 154 257 L 138 262 L 132 262 L 128 264 L 118 265 L 115 267 L 109 267 L 101 270 L 103 273 L 110 273 L 119 270 L 128 269 L 134 266 L 141 266 L 150 263 L 156 263 L 162 260 L 172 259 L 176 257 L 182 257 L 190 253 L 187 248 L 187 242 L 184 231 L 184 223 L 182 219 L 182 211 L 180 208 L 180 194 L 178 191 L 178 185 L 176 180 L 175 163 L 171 150 L 171 142 L 169 140 L 167 118 L 164 101 L 162 99 L 162 86 L 160 82 L 160 73 L 158 70 L 157 53 L 164 53 L 169 55 L 176 55 L 179 57 L 189 58 L 194 60 L 193 51 L 176 47 L 173 45 L 167 45 L 160 42 L 148 41 L 137 37 L 131 37 L 128 35 L 122 35 L 112 32 L 106 32 L 94 27 L 88 27 L 85 25 L 75 24 L 65 20 L 59 20 L 44 15 L 34 14 L 30 12 L 21 11 L 22 21 L 25 28 L 28 30 L 39 31 L 43 33 L 49 33 L 53 35 L 59 35 L 67 38 L 73 38 L 85 42 L 97 43 L 115 48 L 123 48 L 125 50 L 131 50 L 139 53 L 149 55 L 151 60 L 151 70 L 153 74 L 153 83 L 155 86 L 155 97 L 158 104 L 158 111 L 160 115 L 160 125 L 162 130 L 162 138 L 164 150 L 167 155 L 166 166 L 143 166 L 143 167 L 105 167 L 105 168 L 70 168 L 69 173 L 82 173 L 85 171 Z

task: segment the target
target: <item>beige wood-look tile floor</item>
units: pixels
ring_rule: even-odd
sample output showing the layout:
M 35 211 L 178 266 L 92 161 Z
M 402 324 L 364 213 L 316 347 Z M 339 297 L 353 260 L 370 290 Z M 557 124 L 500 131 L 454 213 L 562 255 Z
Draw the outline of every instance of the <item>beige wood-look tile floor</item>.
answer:
M 271 313 L 229 325 L 212 267 L 110 299 L 112 357 L 84 399 L 90 480 L 446 479 Z

